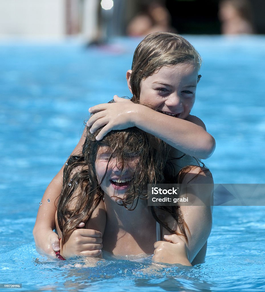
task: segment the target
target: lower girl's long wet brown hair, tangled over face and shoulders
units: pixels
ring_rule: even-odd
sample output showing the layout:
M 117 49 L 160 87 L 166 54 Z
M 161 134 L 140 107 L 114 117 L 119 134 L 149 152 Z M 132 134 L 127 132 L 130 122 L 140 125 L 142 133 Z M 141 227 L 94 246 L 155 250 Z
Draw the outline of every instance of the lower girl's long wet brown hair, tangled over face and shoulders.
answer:
M 159 138 L 133 127 L 122 131 L 111 131 L 102 140 L 97 141 L 95 137 L 100 130 L 101 128 L 91 134 L 88 128 L 82 154 L 72 155 L 64 167 L 62 192 L 57 205 L 57 220 L 62 230 L 62 244 L 65 235 L 79 223 L 87 222 L 100 200 L 103 199 L 104 193 L 100 188 L 101 182 L 97 181 L 95 169 L 100 146 L 108 146 L 111 149 L 109 160 L 115 155 L 117 161 L 121 163 L 121 169 L 125 169 L 131 153 L 138 157 L 138 164 L 133 171 L 130 186 L 124 198 L 119 201 L 121 202 L 119 204 L 128 210 L 136 208 L 139 199 L 147 200 L 148 184 L 167 182 L 173 173 L 172 165 L 168 160 L 169 145 Z M 187 226 L 178 206 L 151 208 L 156 221 L 171 233 L 176 233 L 158 218 L 158 208 L 172 215 L 179 225 L 180 234 L 187 238 L 185 232 Z

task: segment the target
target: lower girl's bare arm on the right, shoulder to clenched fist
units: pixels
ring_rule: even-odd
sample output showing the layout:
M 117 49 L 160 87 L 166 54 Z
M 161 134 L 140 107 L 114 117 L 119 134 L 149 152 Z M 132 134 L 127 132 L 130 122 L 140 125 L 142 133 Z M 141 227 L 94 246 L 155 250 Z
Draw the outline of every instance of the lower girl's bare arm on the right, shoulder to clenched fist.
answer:
M 189 228 L 189 231 L 186 230 L 187 240 L 183 236 L 170 235 L 169 231 L 163 228 L 163 234 L 167 235 L 164 236 L 165 241 L 155 243 L 153 259 L 163 263 L 196 265 L 205 260 L 207 239 L 212 228 L 213 181 L 207 169 L 192 166 L 182 183 L 188 186 L 188 192 L 185 191 L 184 195 L 192 200 L 192 205 L 181 206 L 182 215 Z M 167 216 L 165 220 L 172 230 L 181 233 L 175 219 Z

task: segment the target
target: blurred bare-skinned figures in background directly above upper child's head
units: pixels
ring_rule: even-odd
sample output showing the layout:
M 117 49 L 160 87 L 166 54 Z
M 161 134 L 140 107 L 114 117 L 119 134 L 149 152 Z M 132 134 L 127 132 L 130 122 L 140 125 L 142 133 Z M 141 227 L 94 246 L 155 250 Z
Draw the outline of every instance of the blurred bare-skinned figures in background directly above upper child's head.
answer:
M 162 1 L 146 1 L 127 26 L 128 36 L 147 36 L 153 32 L 176 32 L 171 15 Z

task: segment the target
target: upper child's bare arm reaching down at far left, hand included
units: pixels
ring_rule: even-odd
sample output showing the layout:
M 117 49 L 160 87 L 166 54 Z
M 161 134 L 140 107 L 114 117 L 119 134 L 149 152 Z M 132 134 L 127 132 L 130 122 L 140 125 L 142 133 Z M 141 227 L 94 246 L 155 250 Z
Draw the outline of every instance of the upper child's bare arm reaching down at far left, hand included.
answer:
M 78 154 L 82 151 L 82 145 L 84 144 L 85 137 L 84 130 L 82 137 L 76 145 L 72 154 Z M 59 237 L 53 232 L 55 228 L 55 212 L 57 206 L 57 199 L 60 196 L 63 181 L 63 170 L 55 175 L 53 180 L 48 185 L 45 193 L 42 197 L 42 205 L 39 207 L 39 211 L 36 218 L 36 223 L 33 229 L 34 240 L 36 244 L 36 250 L 40 254 L 55 257 L 55 252 L 60 249 Z

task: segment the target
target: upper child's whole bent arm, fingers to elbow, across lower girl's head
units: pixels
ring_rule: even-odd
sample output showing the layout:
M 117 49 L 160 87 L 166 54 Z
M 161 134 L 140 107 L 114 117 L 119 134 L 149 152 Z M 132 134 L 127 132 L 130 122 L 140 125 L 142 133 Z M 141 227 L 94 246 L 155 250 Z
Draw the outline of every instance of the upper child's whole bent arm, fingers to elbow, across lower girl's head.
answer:
M 186 120 L 170 117 L 130 100 L 114 97 L 116 102 L 90 108 L 95 113 L 88 121 L 91 133 L 104 126 L 97 136 L 101 140 L 111 130 L 136 126 L 167 142 L 181 152 L 206 159 L 215 150 L 215 140 L 207 133 L 202 121 L 194 116 Z

